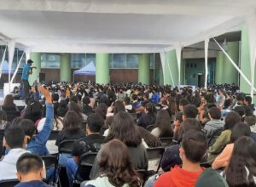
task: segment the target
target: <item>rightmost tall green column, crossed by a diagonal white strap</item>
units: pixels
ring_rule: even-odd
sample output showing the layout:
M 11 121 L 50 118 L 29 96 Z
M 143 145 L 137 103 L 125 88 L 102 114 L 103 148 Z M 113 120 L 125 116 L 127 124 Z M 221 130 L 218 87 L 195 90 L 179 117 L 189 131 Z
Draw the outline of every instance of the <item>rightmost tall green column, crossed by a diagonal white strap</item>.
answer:
M 241 30 L 241 71 L 251 80 L 250 50 L 247 27 Z M 251 93 L 249 84 L 240 76 L 240 90 L 245 94 Z

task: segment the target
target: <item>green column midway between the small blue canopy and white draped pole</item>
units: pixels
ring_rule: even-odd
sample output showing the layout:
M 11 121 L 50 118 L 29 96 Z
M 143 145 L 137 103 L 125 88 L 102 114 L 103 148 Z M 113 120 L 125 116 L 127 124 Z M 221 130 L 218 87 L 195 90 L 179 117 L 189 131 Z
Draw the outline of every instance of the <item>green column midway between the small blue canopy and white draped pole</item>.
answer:
M 150 83 L 150 60 L 149 54 L 139 54 L 138 82 Z

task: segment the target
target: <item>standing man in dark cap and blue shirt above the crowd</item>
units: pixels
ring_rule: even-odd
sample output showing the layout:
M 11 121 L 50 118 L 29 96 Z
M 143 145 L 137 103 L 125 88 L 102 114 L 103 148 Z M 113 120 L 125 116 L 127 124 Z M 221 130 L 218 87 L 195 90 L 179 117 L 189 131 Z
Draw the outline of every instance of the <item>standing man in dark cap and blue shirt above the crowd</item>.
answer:
M 28 82 L 28 77 L 29 75 L 32 74 L 32 59 L 28 59 L 26 61 L 26 65 L 24 65 L 23 67 L 23 70 L 22 70 L 22 76 L 21 76 L 21 79 L 22 79 L 22 84 L 23 84 L 23 97 L 22 99 L 25 99 L 27 97 L 27 95 L 29 94 L 29 88 L 30 88 L 30 85 L 29 85 L 29 82 Z

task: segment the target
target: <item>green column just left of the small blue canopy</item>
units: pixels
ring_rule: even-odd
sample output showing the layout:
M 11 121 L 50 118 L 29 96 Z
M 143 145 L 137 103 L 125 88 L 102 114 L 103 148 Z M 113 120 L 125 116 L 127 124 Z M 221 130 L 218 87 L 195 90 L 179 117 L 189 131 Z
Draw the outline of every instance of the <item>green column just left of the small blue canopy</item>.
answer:
M 60 81 L 71 82 L 71 54 L 60 55 Z

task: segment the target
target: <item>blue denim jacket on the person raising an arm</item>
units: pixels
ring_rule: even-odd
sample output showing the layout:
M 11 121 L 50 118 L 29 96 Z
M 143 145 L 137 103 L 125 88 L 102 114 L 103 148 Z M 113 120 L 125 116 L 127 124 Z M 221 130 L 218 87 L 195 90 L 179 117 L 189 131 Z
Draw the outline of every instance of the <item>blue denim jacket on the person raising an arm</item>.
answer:
M 46 142 L 49 139 L 49 133 L 52 129 L 54 119 L 54 108 L 52 104 L 46 103 L 46 117 L 44 127 L 38 135 L 33 136 L 31 141 L 27 144 L 26 150 L 31 151 L 39 156 L 49 155 L 49 151 L 46 148 Z

